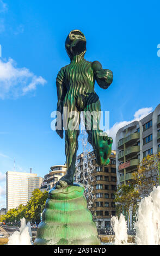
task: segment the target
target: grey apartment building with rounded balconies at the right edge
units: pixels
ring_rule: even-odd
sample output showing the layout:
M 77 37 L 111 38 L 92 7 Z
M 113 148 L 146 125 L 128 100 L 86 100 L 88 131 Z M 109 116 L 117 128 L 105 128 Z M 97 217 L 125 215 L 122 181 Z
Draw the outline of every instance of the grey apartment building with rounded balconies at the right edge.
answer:
M 116 175 L 118 185 L 132 181 L 132 173 L 148 154 L 160 152 L 160 104 L 139 121 L 116 133 Z

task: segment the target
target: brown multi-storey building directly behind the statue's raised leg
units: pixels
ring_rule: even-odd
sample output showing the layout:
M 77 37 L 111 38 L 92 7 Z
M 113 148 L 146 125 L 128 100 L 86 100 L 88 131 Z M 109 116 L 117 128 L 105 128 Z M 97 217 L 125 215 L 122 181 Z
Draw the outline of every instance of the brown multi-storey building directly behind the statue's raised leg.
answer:
M 93 175 L 93 182 L 90 184 L 90 186 L 93 186 L 94 203 L 90 210 L 93 213 L 97 227 L 109 228 L 110 218 L 115 215 L 115 150 L 112 150 L 112 154 L 110 155 L 110 163 L 103 167 L 96 164 L 94 151 L 89 153 L 89 155 L 94 166 L 91 171 L 91 175 Z M 83 161 L 82 153 L 77 157 L 77 168 L 81 170 L 81 174 L 78 175 L 78 182 L 80 183 L 83 183 L 84 179 L 88 179 L 88 173 L 83 174 Z

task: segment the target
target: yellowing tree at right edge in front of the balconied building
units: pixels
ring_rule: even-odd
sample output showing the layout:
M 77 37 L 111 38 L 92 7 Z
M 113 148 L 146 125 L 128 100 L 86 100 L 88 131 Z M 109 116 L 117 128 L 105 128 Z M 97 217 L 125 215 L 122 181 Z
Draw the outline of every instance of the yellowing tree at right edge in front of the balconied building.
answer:
M 147 155 L 133 173 L 134 183 L 141 197 L 148 196 L 153 186 L 159 184 L 160 153 Z

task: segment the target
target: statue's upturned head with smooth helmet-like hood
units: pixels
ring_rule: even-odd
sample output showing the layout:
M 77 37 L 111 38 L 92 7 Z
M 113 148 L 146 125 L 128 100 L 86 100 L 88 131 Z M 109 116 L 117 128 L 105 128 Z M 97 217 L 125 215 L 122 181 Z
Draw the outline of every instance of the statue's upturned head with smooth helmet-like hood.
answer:
M 86 52 L 86 39 L 78 29 L 72 30 L 65 40 L 65 48 L 70 59 Z

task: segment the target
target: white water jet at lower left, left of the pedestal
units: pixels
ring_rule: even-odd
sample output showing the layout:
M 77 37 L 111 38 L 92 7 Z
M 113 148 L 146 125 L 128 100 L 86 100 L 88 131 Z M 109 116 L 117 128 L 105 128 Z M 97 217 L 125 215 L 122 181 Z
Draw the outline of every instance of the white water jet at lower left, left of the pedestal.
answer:
M 32 231 L 30 223 L 26 225 L 25 218 L 21 219 L 20 231 L 15 231 L 8 239 L 8 245 L 32 245 Z

